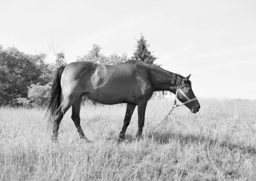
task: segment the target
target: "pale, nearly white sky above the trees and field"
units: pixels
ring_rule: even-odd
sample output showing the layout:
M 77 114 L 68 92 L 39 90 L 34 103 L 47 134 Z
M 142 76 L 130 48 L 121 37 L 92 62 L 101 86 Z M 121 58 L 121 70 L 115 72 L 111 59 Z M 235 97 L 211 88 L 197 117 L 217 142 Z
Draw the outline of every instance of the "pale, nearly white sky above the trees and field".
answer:
M 47 53 L 58 45 L 68 63 L 93 44 L 133 55 L 140 33 L 155 63 L 192 74 L 199 98 L 256 99 L 255 0 L 1 0 L 0 44 Z

